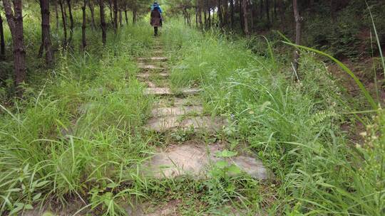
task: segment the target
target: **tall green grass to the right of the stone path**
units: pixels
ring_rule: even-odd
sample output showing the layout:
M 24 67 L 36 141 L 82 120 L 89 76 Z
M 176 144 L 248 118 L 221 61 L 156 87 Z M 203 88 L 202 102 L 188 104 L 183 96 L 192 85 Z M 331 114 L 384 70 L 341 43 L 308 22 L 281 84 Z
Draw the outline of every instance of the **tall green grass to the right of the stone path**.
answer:
M 246 142 L 274 171 L 277 201 L 267 212 L 384 213 L 384 136 L 373 136 L 384 129 L 383 112 L 374 121 L 366 120 L 374 122 L 367 126 L 371 141 L 355 144 L 341 129 L 349 121 L 344 113 L 350 111 L 346 101 L 351 99 L 312 53 L 302 55 L 303 80 L 298 84 L 289 78 L 289 67 L 272 64 L 270 49 L 253 55 L 245 39 L 228 41 L 215 31 L 198 34 L 180 23 L 172 26 L 163 41 L 174 52 L 173 85 L 204 89 L 202 97 L 211 112 L 233 122 L 225 130 L 232 146 Z

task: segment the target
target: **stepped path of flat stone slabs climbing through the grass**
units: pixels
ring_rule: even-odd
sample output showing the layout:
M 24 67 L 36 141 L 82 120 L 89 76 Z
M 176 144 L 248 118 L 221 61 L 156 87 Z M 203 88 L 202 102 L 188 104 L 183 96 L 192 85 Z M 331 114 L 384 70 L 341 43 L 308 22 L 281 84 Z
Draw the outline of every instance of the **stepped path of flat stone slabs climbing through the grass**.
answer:
M 154 95 L 158 99 L 146 128 L 157 133 L 190 129 L 212 134 L 221 131 L 227 125 L 227 120 L 205 114 L 202 104 L 197 99 L 199 97 L 194 97 L 200 93 L 199 89 L 188 88 L 178 91 L 170 89 L 168 58 L 161 56 L 163 50 L 160 44 L 155 45 L 154 49 L 152 53 L 156 56 L 138 58 L 138 68 L 141 71 L 137 77 L 147 85 L 145 94 Z M 163 86 L 156 84 L 157 79 L 163 80 L 160 82 Z M 166 149 L 158 149 L 158 152 L 142 165 L 140 171 L 149 178 L 175 178 L 179 175 L 190 175 L 195 179 L 203 179 L 210 178 L 210 169 L 213 164 L 226 161 L 228 166 L 235 165 L 242 173 L 247 173 L 252 178 L 258 180 L 269 178 L 269 172 L 255 157 L 237 155 L 222 158 L 218 156 L 225 149 L 223 144 L 205 144 L 204 141 L 168 146 Z

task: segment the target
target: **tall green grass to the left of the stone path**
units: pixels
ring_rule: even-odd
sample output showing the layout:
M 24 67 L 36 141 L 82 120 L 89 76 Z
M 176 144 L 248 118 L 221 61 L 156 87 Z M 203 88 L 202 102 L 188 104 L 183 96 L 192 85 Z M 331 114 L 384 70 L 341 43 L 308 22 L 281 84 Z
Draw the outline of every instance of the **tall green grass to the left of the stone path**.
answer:
M 1 104 L 0 212 L 71 200 L 118 212 L 98 200 L 102 190 L 116 190 L 111 183 L 119 185 L 122 170 L 149 148 L 138 131 L 151 99 L 135 79 L 135 57 L 148 50 L 150 36 L 150 28 L 127 26 L 103 48 L 98 34 L 90 34 L 86 53 L 59 50 L 55 68 L 29 77 L 24 99 Z M 140 195 L 120 190 L 111 203 L 131 194 Z

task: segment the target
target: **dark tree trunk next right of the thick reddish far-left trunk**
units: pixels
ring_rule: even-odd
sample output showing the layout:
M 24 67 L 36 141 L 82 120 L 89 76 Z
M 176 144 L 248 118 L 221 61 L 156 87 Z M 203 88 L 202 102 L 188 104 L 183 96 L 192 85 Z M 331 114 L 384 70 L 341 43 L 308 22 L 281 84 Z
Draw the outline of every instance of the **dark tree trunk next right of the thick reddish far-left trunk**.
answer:
M 46 64 L 51 65 L 53 60 L 51 46 L 51 27 L 49 23 L 49 0 L 40 0 L 41 10 L 41 46 L 39 57 L 43 56 L 43 50 L 46 50 Z

